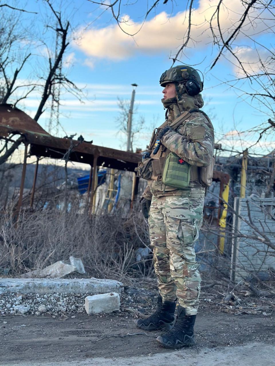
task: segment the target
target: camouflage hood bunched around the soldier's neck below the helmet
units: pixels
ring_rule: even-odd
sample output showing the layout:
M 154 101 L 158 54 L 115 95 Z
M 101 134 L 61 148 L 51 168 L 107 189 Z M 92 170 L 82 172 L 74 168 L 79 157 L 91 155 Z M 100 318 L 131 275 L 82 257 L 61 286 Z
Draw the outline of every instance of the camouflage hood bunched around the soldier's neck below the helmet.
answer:
M 180 83 L 179 83 L 180 84 Z M 192 108 L 202 108 L 203 100 L 201 94 L 197 94 L 194 97 L 188 95 L 187 93 L 181 94 L 180 99 L 162 98 L 162 104 L 164 108 L 168 108 L 169 120 L 174 120 L 179 117 L 183 112 L 189 111 Z

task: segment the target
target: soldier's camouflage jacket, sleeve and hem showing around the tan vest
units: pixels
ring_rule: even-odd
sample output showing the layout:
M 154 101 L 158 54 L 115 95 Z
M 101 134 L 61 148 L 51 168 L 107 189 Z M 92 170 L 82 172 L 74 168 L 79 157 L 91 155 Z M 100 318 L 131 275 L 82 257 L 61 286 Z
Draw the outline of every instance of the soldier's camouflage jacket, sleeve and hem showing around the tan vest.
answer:
M 190 99 L 189 96 L 188 98 Z M 203 105 L 202 99 L 200 103 L 197 103 L 197 105 L 195 104 L 195 107 L 201 107 L 201 105 Z M 181 113 L 184 110 L 189 110 L 192 107 L 194 108 L 194 105 L 191 107 L 186 105 L 185 107 L 186 108 L 181 110 Z M 170 109 L 168 126 L 174 120 L 175 114 L 176 113 L 173 113 L 173 110 Z M 179 113 L 177 113 L 177 115 L 179 115 Z M 212 123 L 209 122 L 202 113 L 193 112 L 188 119 L 176 128 L 176 130 L 166 132 L 162 137 L 161 142 L 162 145 L 177 154 L 177 156 L 185 160 L 188 164 L 196 167 L 206 167 L 211 163 L 214 153 L 214 129 Z M 142 197 L 151 200 L 152 195 L 155 197 L 186 196 L 202 198 L 205 195 L 205 187 L 197 180 L 192 179 L 190 185 L 182 189 L 166 186 L 162 183 L 161 179 L 148 179 L 148 186 Z

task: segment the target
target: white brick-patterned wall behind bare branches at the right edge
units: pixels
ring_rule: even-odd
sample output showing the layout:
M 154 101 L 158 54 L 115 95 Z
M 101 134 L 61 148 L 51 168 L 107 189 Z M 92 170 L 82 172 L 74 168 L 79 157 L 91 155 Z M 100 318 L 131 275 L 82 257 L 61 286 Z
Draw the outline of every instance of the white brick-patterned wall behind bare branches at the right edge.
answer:
M 234 214 L 233 236 L 236 234 L 247 235 L 250 238 L 232 239 L 231 280 L 238 283 L 241 279 L 251 277 L 253 273 L 266 272 L 275 268 L 275 251 L 260 240 L 251 236 L 260 236 L 253 225 L 265 233 L 272 243 L 275 243 L 275 198 L 259 197 L 239 198 L 234 201 L 234 209 L 247 222 Z M 251 222 L 248 216 L 247 205 L 250 208 Z M 264 228 L 264 229 L 263 229 Z M 257 251 L 260 252 L 257 253 Z M 273 255 L 272 255 L 273 254 Z

